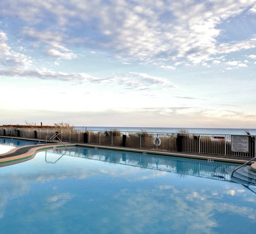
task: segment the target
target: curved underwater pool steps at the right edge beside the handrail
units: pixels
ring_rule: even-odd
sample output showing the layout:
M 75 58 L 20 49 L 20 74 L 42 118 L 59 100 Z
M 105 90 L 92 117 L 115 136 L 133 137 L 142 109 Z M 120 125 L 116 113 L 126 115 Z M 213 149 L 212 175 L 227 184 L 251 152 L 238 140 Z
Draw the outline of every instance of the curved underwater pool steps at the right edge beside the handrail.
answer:
M 232 171 L 238 166 L 228 166 L 225 168 L 227 174 L 232 174 Z M 233 173 L 231 181 L 243 185 L 256 185 L 256 173 L 250 166 L 243 166 Z

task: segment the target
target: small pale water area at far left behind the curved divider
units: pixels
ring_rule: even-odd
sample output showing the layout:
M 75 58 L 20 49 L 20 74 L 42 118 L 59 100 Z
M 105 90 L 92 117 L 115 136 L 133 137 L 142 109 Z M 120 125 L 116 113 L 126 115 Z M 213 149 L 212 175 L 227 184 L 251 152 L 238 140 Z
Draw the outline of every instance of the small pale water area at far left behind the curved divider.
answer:
M 0 137 L 0 154 L 4 154 L 16 147 L 37 145 L 37 144 L 42 144 L 42 143 Z

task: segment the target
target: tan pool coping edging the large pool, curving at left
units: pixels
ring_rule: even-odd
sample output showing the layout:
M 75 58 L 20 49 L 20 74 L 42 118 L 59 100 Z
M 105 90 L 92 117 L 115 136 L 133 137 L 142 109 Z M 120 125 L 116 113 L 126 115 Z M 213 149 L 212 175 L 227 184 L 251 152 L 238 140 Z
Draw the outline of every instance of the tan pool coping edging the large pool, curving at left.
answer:
M 147 148 L 132 148 L 132 147 L 122 147 L 122 146 L 103 146 L 98 144 L 89 144 L 89 143 L 67 143 L 66 146 L 69 147 L 90 147 L 90 148 L 102 148 L 102 149 L 110 149 L 110 150 L 116 150 L 116 151 L 130 151 L 130 152 L 137 152 L 137 153 L 143 153 L 143 154 L 154 154 L 154 155 L 162 155 L 162 156 L 168 156 L 168 157 L 180 157 L 180 158 L 187 158 L 187 159 L 197 159 L 197 160 L 207 160 L 209 162 L 222 162 L 222 163 L 236 163 L 236 164 L 243 164 L 246 163 L 251 158 L 246 159 L 238 159 L 237 157 L 230 157 L 226 156 L 223 157 L 222 155 L 212 155 L 212 154 L 193 154 L 193 153 L 186 153 L 186 152 L 176 152 L 176 151 L 159 151 L 157 149 L 147 149 Z M 33 157 L 35 157 L 35 154 L 38 151 L 48 150 L 48 149 L 55 149 L 55 148 L 64 148 L 64 146 L 60 143 L 58 144 L 48 144 L 48 145 L 35 145 L 34 147 L 30 148 L 27 152 L 15 156 L 11 156 L 15 151 L 17 151 L 20 148 L 26 148 L 29 146 L 21 146 L 14 148 L 10 150 L 9 152 L 6 152 L 4 154 L 0 154 L 0 165 L 7 166 L 6 164 L 10 165 L 15 162 L 20 163 L 24 162 L 26 160 L 30 160 Z M 30 146 L 31 147 L 31 146 Z M 5 156 L 5 157 L 4 157 Z M 256 168 L 256 163 L 251 162 L 250 164 L 253 165 L 253 169 Z

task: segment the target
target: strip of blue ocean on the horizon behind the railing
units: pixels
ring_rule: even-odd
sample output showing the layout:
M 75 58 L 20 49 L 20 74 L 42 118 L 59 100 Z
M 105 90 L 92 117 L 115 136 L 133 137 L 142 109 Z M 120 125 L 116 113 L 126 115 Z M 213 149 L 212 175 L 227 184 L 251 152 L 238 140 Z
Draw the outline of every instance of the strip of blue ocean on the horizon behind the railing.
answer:
M 177 133 L 180 129 L 185 129 L 189 133 L 195 134 L 246 134 L 249 131 L 251 135 L 256 135 L 256 129 L 248 128 L 137 128 L 137 127 L 84 127 L 75 126 L 76 130 L 119 130 L 119 131 L 147 131 L 147 132 L 164 132 L 164 133 Z

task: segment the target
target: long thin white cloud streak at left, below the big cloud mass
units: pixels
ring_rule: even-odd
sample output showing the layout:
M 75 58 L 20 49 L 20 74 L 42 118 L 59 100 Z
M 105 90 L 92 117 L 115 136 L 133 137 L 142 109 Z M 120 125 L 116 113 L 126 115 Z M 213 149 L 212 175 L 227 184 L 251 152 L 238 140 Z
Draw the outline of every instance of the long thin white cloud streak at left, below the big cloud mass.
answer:
M 45 37 L 45 36 L 44 36 Z M 46 36 L 48 38 L 48 36 Z M 15 53 L 6 44 L 7 37 L 6 34 L 0 33 L 0 50 L 2 51 L 2 56 L 0 55 L 0 62 L 6 65 L 3 69 L 0 69 L 0 75 L 11 76 L 11 77 L 29 77 L 38 78 L 42 80 L 62 80 L 62 81 L 75 81 L 76 84 L 91 82 L 91 83 L 116 83 L 118 85 L 124 86 L 129 89 L 139 89 L 148 90 L 151 88 L 176 88 L 172 82 L 166 78 L 151 76 L 145 73 L 138 72 L 128 72 L 122 76 L 113 76 L 106 78 L 98 78 L 90 76 L 86 73 L 66 73 L 51 71 L 47 68 L 28 68 L 31 65 L 30 60 L 26 58 L 23 54 Z M 60 47 L 61 48 L 61 47 Z M 75 54 L 67 52 L 65 48 L 61 48 L 66 52 L 60 52 L 56 49 L 49 49 L 47 54 L 57 57 L 72 59 L 76 57 Z M 6 59 L 7 57 L 7 59 Z M 12 60 L 12 63 L 5 64 L 6 60 Z M 21 66 L 23 65 L 23 67 Z M 59 65 L 55 61 L 55 65 Z

